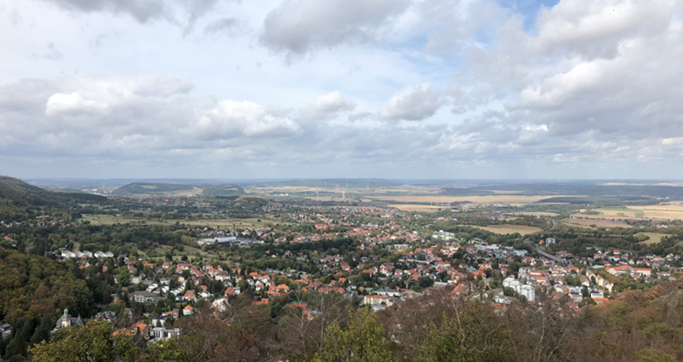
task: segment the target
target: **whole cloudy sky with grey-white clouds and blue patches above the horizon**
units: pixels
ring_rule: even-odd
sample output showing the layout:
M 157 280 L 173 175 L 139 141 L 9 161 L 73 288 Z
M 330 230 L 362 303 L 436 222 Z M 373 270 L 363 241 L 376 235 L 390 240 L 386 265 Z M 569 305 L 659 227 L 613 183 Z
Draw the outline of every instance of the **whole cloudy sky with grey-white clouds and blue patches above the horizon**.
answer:
M 3 0 L 0 174 L 683 179 L 683 0 Z

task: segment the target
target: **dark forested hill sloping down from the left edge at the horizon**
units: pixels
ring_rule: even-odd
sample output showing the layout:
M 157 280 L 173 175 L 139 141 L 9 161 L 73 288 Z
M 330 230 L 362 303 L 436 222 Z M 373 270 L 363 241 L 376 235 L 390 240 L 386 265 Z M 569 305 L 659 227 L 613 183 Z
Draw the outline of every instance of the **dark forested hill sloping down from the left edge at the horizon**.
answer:
M 70 192 L 53 192 L 28 184 L 18 178 L 0 176 L 0 199 L 21 205 L 57 205 L 72 202 L 102 202 L 104 196 Z

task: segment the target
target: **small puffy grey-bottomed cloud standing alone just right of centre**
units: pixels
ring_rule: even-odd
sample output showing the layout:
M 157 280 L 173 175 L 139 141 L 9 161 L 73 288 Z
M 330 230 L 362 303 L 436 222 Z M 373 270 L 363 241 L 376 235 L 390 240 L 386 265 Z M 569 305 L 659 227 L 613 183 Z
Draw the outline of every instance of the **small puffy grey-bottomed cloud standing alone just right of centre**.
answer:
M 423 120 L 429 118 L 443 105 L 438 91 L 431 84 L 401 90 L 387 101 L 380 116 L 393 120 Z

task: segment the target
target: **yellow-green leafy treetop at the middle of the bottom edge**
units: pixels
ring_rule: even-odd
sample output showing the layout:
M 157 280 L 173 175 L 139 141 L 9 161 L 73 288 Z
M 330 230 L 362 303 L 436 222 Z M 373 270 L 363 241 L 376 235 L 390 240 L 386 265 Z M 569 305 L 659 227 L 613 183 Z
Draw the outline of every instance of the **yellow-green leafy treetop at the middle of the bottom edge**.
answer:
M 370 310 L 354 313 L 346 329 L 335 323 L 325 329 L 323 352 L 315 362 L 383 362 L 392 359 L 392 343 Z

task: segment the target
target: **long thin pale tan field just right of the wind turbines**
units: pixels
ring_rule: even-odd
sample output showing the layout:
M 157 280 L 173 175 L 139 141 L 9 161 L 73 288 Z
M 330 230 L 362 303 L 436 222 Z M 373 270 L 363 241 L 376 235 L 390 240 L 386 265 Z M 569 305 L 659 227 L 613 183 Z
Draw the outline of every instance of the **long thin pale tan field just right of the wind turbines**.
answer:
M 380 200 L 388 203 L 476 203 L 476 204 L 505 204 L 525 205 L 535 203 L 548 196 L 525 196 L 525 195 L 489 195 L 489 196 L 365 196 L 372 200 Z

